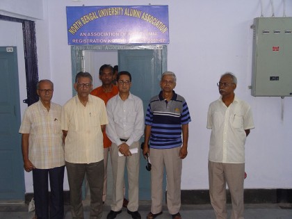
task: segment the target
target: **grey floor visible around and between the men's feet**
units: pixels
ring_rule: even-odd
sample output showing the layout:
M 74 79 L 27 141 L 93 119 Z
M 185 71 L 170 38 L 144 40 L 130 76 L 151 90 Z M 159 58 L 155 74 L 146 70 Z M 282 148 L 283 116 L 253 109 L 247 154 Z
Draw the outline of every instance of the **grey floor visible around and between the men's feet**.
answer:
M 85 202 L 85 218 L 89 218 L 89 206 L 88 202 Z M 149 212 L 149 203 L 141 203 L 139 207 L 142 218 L 146 218 Z M 29 213 L 28 206 L 26 204 L 0 204 L 0 218 L 8 219 L 31 219 L 33 213 Z M 229 206 L 230 210 L 230 206 Z M 72 218 L 70 213 L 70 207 L 65 206 L 65 219 Z M 104 206 L 103 219 L 110 211 L 110 206 Z M 213 210 L 210 205 L 183 205 L 181 206 L 181 217 L 184 219 L 215 219 Z M 117 216 L 117 219 L 131 218 L 126 209 L 123 209 L 122 213 Z M 157 219 L 171 219 L 166 206 L 163 207 L 163 214 Z M 279 205 L 279 204 L 246 204 L 245 205 L 245 219 L 291 219 L 292 207 L 291 205 Z

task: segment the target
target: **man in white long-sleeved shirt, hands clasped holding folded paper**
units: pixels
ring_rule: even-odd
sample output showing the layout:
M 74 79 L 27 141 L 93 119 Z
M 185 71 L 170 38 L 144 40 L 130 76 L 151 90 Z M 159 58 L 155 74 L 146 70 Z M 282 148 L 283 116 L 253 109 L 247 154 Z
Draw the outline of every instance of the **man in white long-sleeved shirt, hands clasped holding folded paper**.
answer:
M 129 181 L 129 204 L 127 212 L 133 219 L 140 219 L 138 212 L 138 179 L 140 167 L 139 140 L 144 131 L 143 102 L 132 95 L 131 74 L 117 74 L 119 94 L 111 98 L 107 105 L 108 125 L 106 133 L 111 139 L 111 163 L 113 168 L 113 202 L 107 219 L 113 219 L 122 212 L 124 199 L 124 168 L 127 163 Z

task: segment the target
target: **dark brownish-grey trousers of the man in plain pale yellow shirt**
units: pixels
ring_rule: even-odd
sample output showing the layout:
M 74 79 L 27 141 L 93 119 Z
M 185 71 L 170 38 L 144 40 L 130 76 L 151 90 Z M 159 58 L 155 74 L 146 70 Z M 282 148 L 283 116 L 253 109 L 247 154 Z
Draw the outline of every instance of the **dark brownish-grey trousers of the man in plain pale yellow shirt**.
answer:
M 70 187 L 72 218 L 84 218 L 81 188 L 85 175 L 90 189 L 90 219 L 102 218 L 104 160 L 96 163 L 66 162 L 66 168 Z

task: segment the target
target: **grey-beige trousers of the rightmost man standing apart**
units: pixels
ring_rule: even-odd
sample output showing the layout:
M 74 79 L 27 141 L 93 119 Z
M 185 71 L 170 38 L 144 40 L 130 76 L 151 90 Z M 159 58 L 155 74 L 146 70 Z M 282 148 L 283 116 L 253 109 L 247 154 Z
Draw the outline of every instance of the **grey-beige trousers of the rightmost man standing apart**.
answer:
M 232 219 L 244 219 L 244 163 L 214 163 L 209 161 L 209 193 L 217 219 L 227 219 L 226 184 L 232 197 Z

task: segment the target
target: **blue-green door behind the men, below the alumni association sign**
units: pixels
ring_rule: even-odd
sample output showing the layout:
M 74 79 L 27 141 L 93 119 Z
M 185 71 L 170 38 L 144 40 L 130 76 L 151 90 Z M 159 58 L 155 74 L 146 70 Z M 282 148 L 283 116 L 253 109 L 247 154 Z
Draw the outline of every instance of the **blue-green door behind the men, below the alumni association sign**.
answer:
M 144 112 L 147 111 L 149 100 L 158 95 L 161 88 L 159 81 L 165 71 L 166 63 L 163 62 L 161 49 L 133 49 L 119 50 L 119 72 L 128 71 L 132 76 L 131 93 L 143 100 Z M 144 137 L 144 136 L 143 136 Z M 144 138 L 141 138 L 141 142 Z M 139 173 L 139 200 L 151 200 L 150 172 L 145 168 L 146 160 L 140 154 Z M 127 185 L 127 184 L 126 184 Z M 165 180 L 163 180 L 165 190 Z

